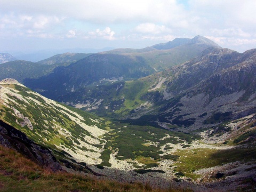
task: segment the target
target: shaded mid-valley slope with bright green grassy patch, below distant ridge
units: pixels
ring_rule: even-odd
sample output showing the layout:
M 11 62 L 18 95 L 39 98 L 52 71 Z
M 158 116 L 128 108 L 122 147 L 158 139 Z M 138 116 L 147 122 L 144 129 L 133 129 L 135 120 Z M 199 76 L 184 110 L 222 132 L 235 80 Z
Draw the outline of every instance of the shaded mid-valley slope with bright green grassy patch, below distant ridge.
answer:
M 95 112 L 99 116 L 120 119 L 129 116 L 132 110 L 139 108 L 141 105 L 145 105 L 145 107 L 148 105 L 149 107 L 151 99 L 158 98 L 159 91 L 163 90 L 164 85 L 157 90 L 149 90 L 158 84 L 162 76 L 162 73 L 158 73 L 134 81 L 84 87 L 65 95 L 63 101 L 73 102 L 74 104 L 76 104 L 76 101 L 79 101 L 79 103 L 88 103 L 89 101 L 90 104 L 82 107 L 83 110 L 90 110 L 90 112 Z M 96 105 L 97 101 L 101 101 L 101 104 Z

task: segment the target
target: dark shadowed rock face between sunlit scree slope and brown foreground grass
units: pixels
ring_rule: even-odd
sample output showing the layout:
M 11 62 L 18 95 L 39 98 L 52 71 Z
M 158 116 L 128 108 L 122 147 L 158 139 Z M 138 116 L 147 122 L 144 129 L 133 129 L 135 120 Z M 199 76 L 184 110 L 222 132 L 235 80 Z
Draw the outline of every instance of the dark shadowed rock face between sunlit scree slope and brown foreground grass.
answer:
M 1 145 L 17 150 L 32 161 L 50 168 L 53 171 L 62 170 L 59 162 L 51 151 L 27 138 L 21 131 L 0 120 Z

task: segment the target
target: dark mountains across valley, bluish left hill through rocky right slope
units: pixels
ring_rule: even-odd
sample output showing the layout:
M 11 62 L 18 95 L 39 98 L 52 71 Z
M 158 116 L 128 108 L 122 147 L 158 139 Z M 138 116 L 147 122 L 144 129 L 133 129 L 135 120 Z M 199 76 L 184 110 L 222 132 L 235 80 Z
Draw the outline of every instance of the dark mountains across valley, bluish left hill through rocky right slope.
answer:
M 152 75 L 149 65 L 122 54 L 97 56 L 25 84 L 100 116 L 165 129 L 203 129 L 254 113 L 255 50 L 208 47 L 194 59 Z M 118 65 L 123 68 L 117 70 Z

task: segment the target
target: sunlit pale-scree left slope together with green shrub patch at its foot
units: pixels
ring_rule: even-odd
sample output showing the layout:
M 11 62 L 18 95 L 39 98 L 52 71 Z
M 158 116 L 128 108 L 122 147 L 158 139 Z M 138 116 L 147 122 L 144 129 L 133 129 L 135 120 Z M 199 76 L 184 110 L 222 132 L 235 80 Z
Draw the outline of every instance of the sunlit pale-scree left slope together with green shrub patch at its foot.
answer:
M 2 121 L 22 131 L 39 145 L 51 148 L 57 159 L 64 158 L 80 164 L 86 162 L 91 166 L 100 164 L 132 169 L 138 164 L 137 158 L 155 158 L 159 161 L 176 158 L 161 156 L 161 146 L 165 146 L 166 142 L 183 143 L 184 140 L 191 142 L 198 139 L 197 135 L 166 132 L 163 129 L 153 134 L 154 127 L 111 122 L 82 110 L 67 108 L 29 90 L 14 79 L 4 79 L 0 85 Z M 171 138 L 166 138 L 167 134 Z M 133 139 L 131 135 L 134 135 Z M 162 142 L 159 146 L 148 147 L 145 144 L 160 139 Z M 131 145 L 126 146 L 127 143 Z M 120 159 L 123 162 L 118 164 Z

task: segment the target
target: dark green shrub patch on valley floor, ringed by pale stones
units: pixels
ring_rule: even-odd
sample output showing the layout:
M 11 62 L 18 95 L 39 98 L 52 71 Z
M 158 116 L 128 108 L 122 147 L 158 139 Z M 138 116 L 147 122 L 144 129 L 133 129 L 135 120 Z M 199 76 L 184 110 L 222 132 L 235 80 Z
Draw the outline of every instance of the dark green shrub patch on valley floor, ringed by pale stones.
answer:
M 116 158 L 119 160 L 132 159 L 145 164 L 145 166 L 156 166 L 161 159 L 172 159 L 176 161 L 179 156 L 172 154 L 163 155 L 162 146 L 166 143 L 191 143 L 195 138 L 193 134 L 172 132 L 164 129 L 156 129 L 151 126 L 128 125 L 119 122 L 110 122 L 108 126 L 111 131 L 106 133 L 102 139 L 106 139 L 105 150 L 118 151 Z M 166 135 L 171 137 L 166 137 Z M 178 138 L 176 138 L 178 137 Z M 162 139 L 165 138 L 165 139 Z M 110 155 L 110 151 L 109 151 Z M 109 155 L 102 155 L 103 162 L 108 162 Z

